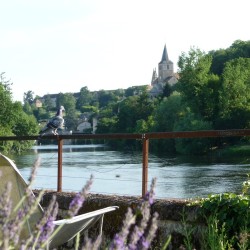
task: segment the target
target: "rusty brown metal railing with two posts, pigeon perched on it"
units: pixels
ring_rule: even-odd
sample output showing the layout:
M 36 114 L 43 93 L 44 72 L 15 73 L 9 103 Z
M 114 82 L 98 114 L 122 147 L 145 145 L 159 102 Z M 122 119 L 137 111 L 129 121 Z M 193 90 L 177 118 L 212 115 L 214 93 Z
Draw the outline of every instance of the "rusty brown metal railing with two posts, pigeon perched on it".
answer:
M 250 129 L 233 130 L 202 130 L 202 131 L 179 131 L 179 132 L 158 132 L 145 134 L 73 134 L 73 135 L 47 135 L 43 139 L 57 140 L 58 144 L 58 173 L 57 192 L 62 191 L 62 153 L 63 140 L 69 139 L 134 139 L 142 141 L 142 196 L 147 192 L 148 183 L 148 154 L 150 139 L 170 139 L 170 138 L 205 138 L 205 137 L 235 137 L 250 136 Z M 0 141 L 22 141 L 37 140 L 38 136 L 0 136 Z

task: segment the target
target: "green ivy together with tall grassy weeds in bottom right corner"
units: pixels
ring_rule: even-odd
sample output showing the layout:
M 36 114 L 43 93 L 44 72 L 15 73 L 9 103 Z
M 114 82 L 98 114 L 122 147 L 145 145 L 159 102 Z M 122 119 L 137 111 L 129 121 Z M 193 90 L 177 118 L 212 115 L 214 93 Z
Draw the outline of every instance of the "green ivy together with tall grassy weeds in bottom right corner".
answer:
M 247 250 L 250 249 L 250 179 L 243 183 L 242 194 L 224 193 L 210 195 L 193 202 L 199 205 L 199 218 L 204 221 L 201 249 Z M 190 233 L 191 231 L 191 233 Z M 186 234 L 187 249 L 193 249 L 192 228 Z

